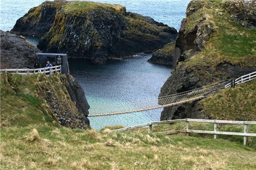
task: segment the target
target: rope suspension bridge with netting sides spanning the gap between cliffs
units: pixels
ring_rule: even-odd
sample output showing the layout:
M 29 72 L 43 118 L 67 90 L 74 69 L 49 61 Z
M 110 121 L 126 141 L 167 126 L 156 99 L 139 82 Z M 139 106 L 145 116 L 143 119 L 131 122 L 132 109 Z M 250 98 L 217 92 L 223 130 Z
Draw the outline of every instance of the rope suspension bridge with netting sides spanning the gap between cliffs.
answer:
M 242 76 L 232 83 L 240 84 L 250 81 L 256 78 L 256 71 L 251 74 Z M 220 81 L 217 83 L 213 83 L 204 87 L 200 87 L 197 89 L 176 93 L 172 95 L 161 96 L 159 98 L 144 100 L 144 101 L 136 101 L 136 102 L 126 102 L 126 103 L 118 103 L 118 104 L 109 104 L 109 105 L 94 105 L 90 108 L 89 117 L 96 116 L 108 116 L 108 115 L 117 115 L 117 114 L 125 114 L 125 113 L 133 113 L 147 110 L 154 110 L 169 106 L 180 105 L 187 102 L 196 101 L 199 99 L 203 99 L 210 94 L 214 94 L 221 89 L 230 87 L 232 84 L 229 81 Z

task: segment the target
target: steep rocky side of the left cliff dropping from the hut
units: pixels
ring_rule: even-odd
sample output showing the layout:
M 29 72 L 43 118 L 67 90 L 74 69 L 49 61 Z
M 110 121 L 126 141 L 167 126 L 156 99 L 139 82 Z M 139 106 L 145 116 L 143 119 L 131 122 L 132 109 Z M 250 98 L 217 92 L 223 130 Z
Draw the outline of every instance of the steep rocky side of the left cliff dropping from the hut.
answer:
M 52 79 L 55 83 L 48 86 L 45 85 L 48 80 L 43 75 L 39 75 L 37 79 L 39 82 L 36 87 L 40 95 L 61 126 L 72 129 L 91 128 L 87 118 L 90 106 L 80 85 L 71 75 L 54 75 Z

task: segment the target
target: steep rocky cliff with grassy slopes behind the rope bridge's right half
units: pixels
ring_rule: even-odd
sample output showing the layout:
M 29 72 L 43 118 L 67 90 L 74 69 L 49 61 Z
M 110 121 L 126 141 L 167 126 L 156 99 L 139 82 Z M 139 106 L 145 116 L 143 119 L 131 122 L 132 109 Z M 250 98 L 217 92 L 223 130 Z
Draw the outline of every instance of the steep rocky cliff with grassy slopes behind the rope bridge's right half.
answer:
M 227 3 L 237 2 L 191 1 L 188 4 L 187 17 L 176 39 L 173 75 L 163 85 L 159 96 L 238 78 L 256 70 L 253 45 L 256 34 L 231 20 L 224 8 Z M 161 120 L 209 118 L 199 103 L 165 108 Z

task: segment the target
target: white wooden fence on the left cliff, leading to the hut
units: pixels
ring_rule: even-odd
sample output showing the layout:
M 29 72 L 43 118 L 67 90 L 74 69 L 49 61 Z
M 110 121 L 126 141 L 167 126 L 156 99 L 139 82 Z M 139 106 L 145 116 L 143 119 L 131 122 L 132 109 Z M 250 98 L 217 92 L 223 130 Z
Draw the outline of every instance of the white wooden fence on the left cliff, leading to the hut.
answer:
M 23 68 L 23 69 L 0 69 L 0 73 L 2 72 L 9 72 L 13 74 L 19 74 L 19 75 L 29 75 L 29 74 L 45 74 L 45 75 L 51 75 L 54 72 L 61 72 L 61 65 L 56 65 L 52 67 L 44 67 L 44 68 Z

